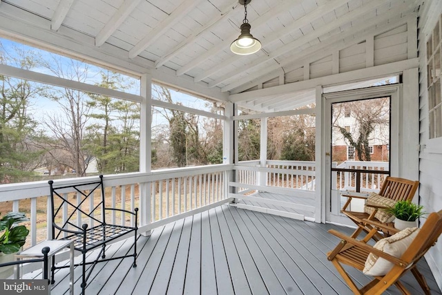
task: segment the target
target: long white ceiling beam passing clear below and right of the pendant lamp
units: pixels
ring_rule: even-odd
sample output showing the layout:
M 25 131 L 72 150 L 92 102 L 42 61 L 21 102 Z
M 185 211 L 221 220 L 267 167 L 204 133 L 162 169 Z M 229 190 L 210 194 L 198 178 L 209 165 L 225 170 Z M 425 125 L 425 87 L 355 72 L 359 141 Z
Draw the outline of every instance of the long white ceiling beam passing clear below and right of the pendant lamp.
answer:
M 340 17 L 336 19 L 335 21 L 332 21 L 332 23 L 328 23 L 327 25 L 322 26 L 318 30 L 314 30 L 314 32 L 311 32 L 307 35 L 304 35 L 295 41 L 286 44 L 285 46 L 281 46 L 277 50 L 270 53 L 268 56 L 259 57 L 258 59 L 255 59 L 250 64 L 244 65 L 241 68 L 238 68 L 237 70 L 233 70 L 230 73 L 227 73 L 223 77 L 220 77 L 219 79 L 216 79 L 215 81 L 209 83 L 209 87 L 214 87 L 219 84 L 225 83 L 227 81 L 231 81 L 232 79 L 236 79 L 236 77 L 244 71 L 251 70 L 252 68 L 255 68 L 256 66 L 260 66 L 261 64 L 264 64 L 265 62 L 275 59 L 276 57 L 279 57 L 280 55 L 284 55 L 285 53 L 291 52 L 293 50 L 296 50 L 296 48 L 299 48 L 302 45 L 307 44 L 309 41 L 313 41 L 314 39 L 317 39 L 318 37 L 321 37 L 327 32 L 330 32 L 334 30 L 335 28 L 339 28 L 340 26 L 345 25 L 346 23 L 349 23 L 350 21 L 354 19 L 358 19 L 361 17 L 364 17 L 364 15 L 367 15 L 367 12 L 369 10 L 373 10 L 378 6 L 381 6 L 385 4 L 385 0 L 373 0 L 369 1 L 367 4 L 360 8 L 356 8 L 352 12 L 347 13 L 346 15 L 343 15 L 343 17 Z M 396 13 L 396 9 L 394 9 L 394 12 Z M 400 11 L 397 11 L 400 12 Z

